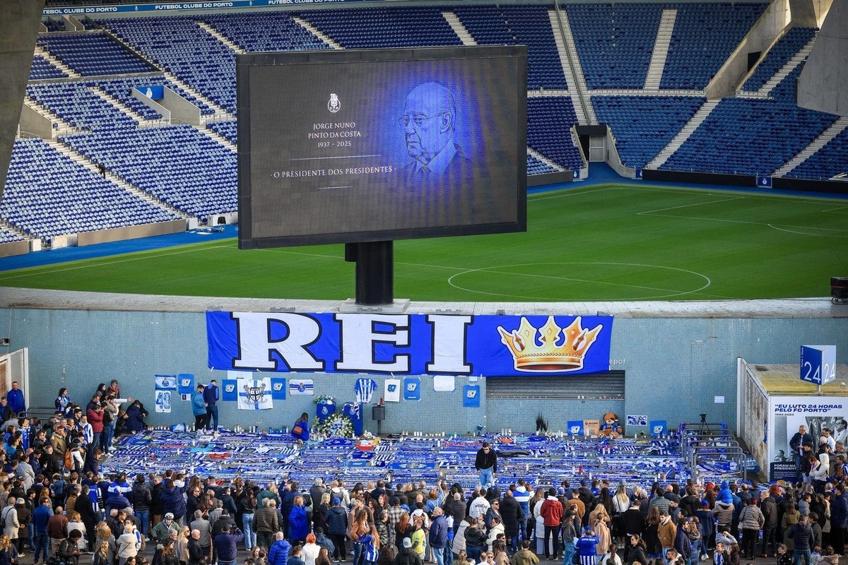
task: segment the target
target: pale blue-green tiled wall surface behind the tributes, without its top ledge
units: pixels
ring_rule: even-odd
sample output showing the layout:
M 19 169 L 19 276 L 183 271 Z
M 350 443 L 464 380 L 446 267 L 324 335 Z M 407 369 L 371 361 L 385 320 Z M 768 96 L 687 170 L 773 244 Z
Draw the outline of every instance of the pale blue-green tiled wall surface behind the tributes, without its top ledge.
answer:
M 114 301 L 120 304 L 120 295 Z M 0 309 L 0 336 L 11 340 L 10 350 L 30 348 L 31 402 L 52 407 L 59 388 L 67 386 L 75 402 L 84 402 L 100 382 L 120 379 L 121 391 L 140 398 L 151 413 L 150 424 L 192 422 L 189 402 L 176 401 L 168 415 L 153 411 L 154 374 L 192 373 L 203 382 L 225 377 L 207 365 L 204 313 L 131 312 L 98 310 Z M 626 371 L 625 400 L 510 400 L 483 398 L 480 408 L 462 407 L 462 385 L 456 391 L 433 392 L 432 379 L 422 377 L 421 402 L 390 403 L 384 432 L 403 429 L 473 432 L 477 424 L 488 429 L 535 428 L 544 413 L 551 429 L 565 427 L 567 419 L 600 418 L 608 410 L 667 419 L 670 426 L 697 420 L 736 419 L 736 358 L 750 363 L 797 363 L 801 343 L 844 344 L 845 319 L 663 319 L 617 317 L 613 326 L 611 357 L 616 369 Z M 837 350 L 838 363 L 848 361 L 845 347 Z M 291 377 L 291 374 L 280 374 Z M 359 375 L 298 374 L 315 379 L 315 394 L 354 400 Z M 848 375 L 837 375 L 845 379 Z M 374 376 L 381 396 L 384 377 Z M 532 378 L 532 377 L 528 377 Z M 567 378 L 563 379 L 567 386 Z M 598 391 L 602 394 L 603 391 Z M 715 396 L 724 396 L 717 404 Z M 291 425 L 302 412 L 314 413 L 309 396 L 289 396 L 272 411 L 238 411 L 226 402 L 222 424 L 232 426 Z M 365 424 L 372 430 L 371 409 Z

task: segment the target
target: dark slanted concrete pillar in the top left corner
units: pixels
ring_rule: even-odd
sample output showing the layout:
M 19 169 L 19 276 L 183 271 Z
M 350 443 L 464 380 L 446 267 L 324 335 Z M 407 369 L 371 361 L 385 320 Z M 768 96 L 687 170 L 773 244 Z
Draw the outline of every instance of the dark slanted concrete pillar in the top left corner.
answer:
M 14 135 L 18 130 L 20 108 L 30 77 L 32 53 L 42 25 L 44 0 L 2 0 L 0 2 L 0 197 L 6 186 Z

